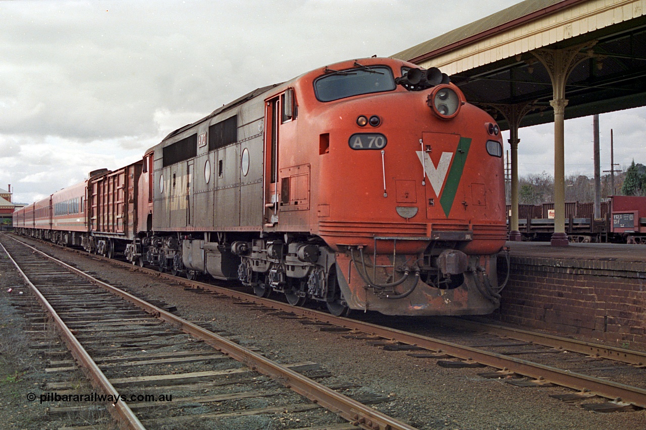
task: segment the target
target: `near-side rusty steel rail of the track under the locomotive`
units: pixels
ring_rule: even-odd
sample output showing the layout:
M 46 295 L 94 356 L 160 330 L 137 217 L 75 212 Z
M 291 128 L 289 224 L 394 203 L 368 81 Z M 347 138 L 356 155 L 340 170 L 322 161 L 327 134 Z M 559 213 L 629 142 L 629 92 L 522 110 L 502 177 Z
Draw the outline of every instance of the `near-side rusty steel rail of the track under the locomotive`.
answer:
M 106 259 L 107 261 L 114 261 L 127 267 L 133 267 L 130 264 L 121 261 Z M 503 354 L 490 353 L 474 347 L 459 345 L 457 343 L 446 342 L 439 339 L 428 338 L 419 334 L 408 333 L 397 329 L 390 329 L 379 325 L 351 320 L 339 316 L 333 316 L 326 312 L 319 312 L 313 309 L 303 307 L 294 307 L 287 303 L 276 302 L 267 298 L 260 298 L 253 294 L 247 294 L 241 291 L 234 291 L 225 287 L 211 285 L 209 283 L 196 282 L 183 280 L 177 276 L 170 274 L 163 274 L 152 269 L 145 269 L 136 267 L 135 270 L 150 272 L 156 276 L 162 276 L 175 282 L 183 282 L 186 285 L 193 285 L 208 289 L 225 296 L 236 298 L 238 300 L 245 300 L 247 302 L 257 303 L 266 307 L 271 307 L 279 311 L 291 312 L 295 315 L 304 316 L 320 322 L 326 322 L 340 327 L 346 327 L 363 333 L 370 333 L 375 336 L 390 339 L 397 342 L 408 343 L 416 345 L 430 351 L 441 351 L 442 353 L 461 358 L 464 360 L 474 360 L 490 367 L 497 369 L 507 369 L 510 372 L 528 376 L 531 378 L 542 379 L 552 384 L 561 385 L 570 389 L 578 391 L 590 391 L 601 397 L 616 399 L 621 398 L 623 402 L 635 405 L 637 407 L 646 408 L 646 390 L 632 387 L 618 382 L 603 380 L 595 378 L 594 376 L 587 376 L 585 374 L 564 371 L 556 367 L 550 367 L 539 363 L 522 360 L 512 356 L 505 356 Z M 601 346 L 601 345 L 599 345 Z

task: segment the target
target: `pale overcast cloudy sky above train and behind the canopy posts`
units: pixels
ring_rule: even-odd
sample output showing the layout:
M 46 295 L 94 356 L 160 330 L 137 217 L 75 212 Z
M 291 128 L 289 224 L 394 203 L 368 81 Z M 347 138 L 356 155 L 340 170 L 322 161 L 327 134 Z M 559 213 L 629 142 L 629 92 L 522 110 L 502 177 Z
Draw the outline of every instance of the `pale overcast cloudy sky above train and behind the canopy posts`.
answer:
M 30 203 L 254 88 L 391 56 L 514 3 L 0 0 L 0 188 Z M 603 114 L 600 128 L 602 170 L 610 128 L 616 163 L 646 163 L 645 108 Z M 521 175 L 553 174 L 552 132 L 520 130 Z M 591 176 L 592 117 L 566 121 L 565 141 L 566 174 Z

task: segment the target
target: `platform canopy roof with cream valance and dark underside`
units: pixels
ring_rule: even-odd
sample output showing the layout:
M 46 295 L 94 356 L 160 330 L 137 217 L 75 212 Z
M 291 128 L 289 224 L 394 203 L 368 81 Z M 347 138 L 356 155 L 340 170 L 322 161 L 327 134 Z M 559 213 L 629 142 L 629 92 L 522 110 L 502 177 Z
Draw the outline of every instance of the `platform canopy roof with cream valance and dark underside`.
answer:
M 643 0 L 526 0 L 393 57 L 440 68 L 472 103 L 547 108 L 528 113 L 525 127 L 554 119 L 552 81 L 536 54 L 574 48 L 585 59 L 562 71 L 565 118 L 612 112 L 646 105 L 645 12 Z

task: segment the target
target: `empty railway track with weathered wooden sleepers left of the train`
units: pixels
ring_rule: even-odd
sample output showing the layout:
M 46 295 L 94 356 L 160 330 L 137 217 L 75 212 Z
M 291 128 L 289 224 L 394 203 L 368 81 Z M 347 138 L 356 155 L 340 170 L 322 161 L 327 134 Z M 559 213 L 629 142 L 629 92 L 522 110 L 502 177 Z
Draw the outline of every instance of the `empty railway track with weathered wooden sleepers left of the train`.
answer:
M 15 256 L 10 258 L 99 393 L 76 395 L 112 396 L 98 403 L 121 428 L 265 428 L 285 414 L 301 416 L 295 422 L 307 425 L 326 408 L 346 424 L 328 418 L 325 428 L 413 429 L 302 374 L 320 376 L 317 363 L 273 362 L 5 237 L 0 245 Z M 48 371 L 64 374 L 74 362 L 54 360 L 51 366 Z M 45 389 L 54 399 L 54 393 L 73 395 L 74 384 L 63 378 Z M 323 415 L 315 418 L 317 425 L 301 427 L 322 428 Z

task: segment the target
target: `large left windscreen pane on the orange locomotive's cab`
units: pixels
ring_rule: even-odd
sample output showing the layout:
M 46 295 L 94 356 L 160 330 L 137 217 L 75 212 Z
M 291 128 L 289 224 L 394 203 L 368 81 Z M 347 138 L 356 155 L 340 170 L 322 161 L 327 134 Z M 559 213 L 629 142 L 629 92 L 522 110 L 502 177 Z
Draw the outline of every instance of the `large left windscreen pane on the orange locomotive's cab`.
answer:
M 393 72 L 386 66 L 330 70 L 328 74 L 317 77 L 314 81 L 314 90 L 319 101 L 391 91 L 395 87 Z

